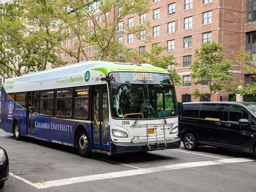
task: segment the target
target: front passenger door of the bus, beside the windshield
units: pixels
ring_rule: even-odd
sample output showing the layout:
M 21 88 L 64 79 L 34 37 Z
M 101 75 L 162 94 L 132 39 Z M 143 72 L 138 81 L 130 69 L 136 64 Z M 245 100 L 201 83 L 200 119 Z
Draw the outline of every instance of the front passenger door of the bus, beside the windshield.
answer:
M 109 151 L 108 92 L 107 86 L 93 87 L 93 146 L 92 148 Z

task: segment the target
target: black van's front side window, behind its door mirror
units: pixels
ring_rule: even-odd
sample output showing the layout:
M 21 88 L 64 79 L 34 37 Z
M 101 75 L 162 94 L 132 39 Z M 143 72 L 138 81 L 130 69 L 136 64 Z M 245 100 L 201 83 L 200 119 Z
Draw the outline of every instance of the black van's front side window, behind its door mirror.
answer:
M 248 119 L 248 118 L 249 118 L 249 114 L 245 111 L 244 108 L 236 105 L 230 105 L 228 121 L 238 122 L 239 119 Z

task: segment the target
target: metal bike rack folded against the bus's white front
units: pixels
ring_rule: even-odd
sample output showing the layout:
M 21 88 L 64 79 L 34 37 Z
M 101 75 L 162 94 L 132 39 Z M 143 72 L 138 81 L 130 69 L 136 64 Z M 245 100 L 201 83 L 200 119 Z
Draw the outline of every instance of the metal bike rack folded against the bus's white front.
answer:
M 131 125 L 131 128 L 146 128 L 146 133 L 147 135 L 145 136 L 133 136 L 131 142 L 132 143 L 142 143 L 142 142 L 147 142 L 147 146 L 148 146 L 148 150 L 150 151 L 151 147 L 149 144 L 152 143 L 156 143 L 157 148 L 159 149 L 159 144 L 164 143 L 164 147 L 167 147 L 166 145 L 166 141 L 168 140 L 173 140 L 175 139 L 174 137 L 165 137 L 165 130 L 168 129 L 170 130 L 172 128 L 173 124 L 172 123 L 162 123 L 162 124 L 138 124 L 138 125 Z M 156 134 L 156 128 L 157 127 L 162 127 L 161 130 L 164 130 L 164 138 L 157 138 L 157 134 Z M 167 128 L 166 128 L 167 127 Z M 155 129 L 155 135 L 156 137 L 153 138 L 149 138 L 148 136 L 148 129 Z M 143 139 L 145 138 L 146 139 Z M 137 140 L 135 140 L 135 138 L 137 138 Z M 149 141 L 149 140 L 156 140 L 156 141 Z

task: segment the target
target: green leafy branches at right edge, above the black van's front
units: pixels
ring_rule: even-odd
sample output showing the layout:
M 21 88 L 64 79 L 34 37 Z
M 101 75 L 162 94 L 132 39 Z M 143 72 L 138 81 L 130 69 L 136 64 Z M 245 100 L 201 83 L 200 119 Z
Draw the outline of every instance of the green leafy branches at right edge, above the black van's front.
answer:
M 238 52 L 233 53 L 236 61 L 241 65 L 244 66 L 244 69 L 247 70 L 248 74 L 255 74 L 256 73 L 256 58 L 253 57 L 253 54 L 251 51 L 244 51 L 244 52 Z M 256 78 L 255 75 L 252 75 L 252 78 Z M 243 82 L 241 82 L 243 83 Z M 242 87 L 241 89 L 237 89 L 236 93 L 239 93 L 241 95 L 256 95 L 256 79 L 255 81 L 252 81 L 246 86 Z

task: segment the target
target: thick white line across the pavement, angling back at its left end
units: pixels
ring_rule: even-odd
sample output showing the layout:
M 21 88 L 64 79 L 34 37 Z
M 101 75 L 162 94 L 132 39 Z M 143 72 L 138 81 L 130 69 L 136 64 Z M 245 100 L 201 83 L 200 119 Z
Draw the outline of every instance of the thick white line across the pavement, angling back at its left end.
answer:
M 162 172 L 162 171 L 172 171 L 172 170 L 191 168 L 191 167 L 201 167 L 201 166 L 218 165 L 218 164 L 231 164 L 231 163 L 250 162 L 250 161 L 256 161 L 256 159 L 232 158 L 232 159 L 218 159 L 218 160 L 212 160 L 212 161 L 199 161 L 199 162 L 191 162 L 191 163 L 172 164 L 172 165 L 149 167 L 149 168 L 143 168 L 143 169 L 132 169 L 128 171 L 87 175 L 82 177 L 72 177 L 67 179 L 46 181 L 44 183 L 31 183 L 30 181 L 24 180 L 23 178 L 20 178 L 17 175 L 14 175 L 14 177 L 38 189 L 43 189 L 43 188 L 82 183 L 87 181 L 127 177 L 127 176 L 142 175 L 142 174 Z

